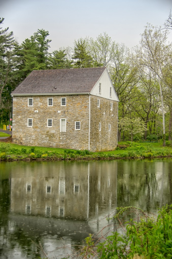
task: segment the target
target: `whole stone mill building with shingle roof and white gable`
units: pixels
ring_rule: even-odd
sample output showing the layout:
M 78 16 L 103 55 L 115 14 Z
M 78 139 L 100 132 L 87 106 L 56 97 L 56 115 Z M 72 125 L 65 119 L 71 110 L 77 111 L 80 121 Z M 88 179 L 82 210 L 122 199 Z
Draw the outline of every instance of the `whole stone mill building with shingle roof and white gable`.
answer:
M 117 146 L 119 100 L 105 67 L 34 70 L 12 96 L 14 143 L 94 152 Z

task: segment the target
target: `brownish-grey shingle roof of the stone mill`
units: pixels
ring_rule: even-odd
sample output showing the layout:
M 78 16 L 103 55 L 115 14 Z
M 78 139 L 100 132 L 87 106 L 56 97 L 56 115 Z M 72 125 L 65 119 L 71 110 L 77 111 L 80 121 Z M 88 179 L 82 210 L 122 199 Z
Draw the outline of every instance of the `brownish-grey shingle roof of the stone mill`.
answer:
M 105 69 L 34 70 L 11 94 L 90 92 Z

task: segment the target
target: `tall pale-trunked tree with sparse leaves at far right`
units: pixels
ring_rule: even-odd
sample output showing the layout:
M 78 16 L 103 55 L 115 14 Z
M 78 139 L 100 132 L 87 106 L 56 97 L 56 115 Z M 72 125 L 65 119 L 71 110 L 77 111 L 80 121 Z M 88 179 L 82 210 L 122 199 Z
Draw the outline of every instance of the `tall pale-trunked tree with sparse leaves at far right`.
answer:
M 161 111 L 162 111 L 162 126 L 163 126 L 163 146 L 165 142 L 165 113 L 164 113 L 164 97 L 163 85 L 164 72 L 168 72 L 171 64 L 171 44 L 167 42 L 167 30 L 162 31 L 161 28 L 154 28 L 148 24 L 145 27 L 140 41 L 140 48 L 136 48 L 136 55 L 139 60 L 139 66 L 143 67 L 144 73 L 151 73 L 152 78 L 158 83 L 160 98 L 161 98 Z M 168 85 L 166 85 L 168 87 Z

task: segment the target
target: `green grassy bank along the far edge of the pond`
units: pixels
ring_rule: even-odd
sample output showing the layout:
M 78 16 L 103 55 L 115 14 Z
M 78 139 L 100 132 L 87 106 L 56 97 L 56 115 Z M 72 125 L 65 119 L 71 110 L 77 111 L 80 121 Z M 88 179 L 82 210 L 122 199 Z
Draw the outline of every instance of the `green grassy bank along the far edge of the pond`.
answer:
M 101 160 L 134 159 L 153 157 L 172 157 L 172 144 L 167 147 L 159 143 L 119 142 L 116 150 L 107 152 L 90 152 L 88 150 L 71 150 L 48 147 L 21 146 L 14 143 L 0 142 L 0 161 L 16 160 Z

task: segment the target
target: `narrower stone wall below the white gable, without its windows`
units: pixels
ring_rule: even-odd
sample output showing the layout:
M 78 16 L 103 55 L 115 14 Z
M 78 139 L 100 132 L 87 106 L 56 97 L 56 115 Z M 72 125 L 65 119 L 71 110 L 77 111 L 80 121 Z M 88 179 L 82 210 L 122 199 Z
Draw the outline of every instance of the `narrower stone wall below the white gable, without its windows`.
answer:
M 114 150 L 117 146 L 118 102 L 92 95 L 90 97 L 90 150 Z M 100 100 L 100 107 L 97 107 L 97 99 Z M 110 103 L 113 104 L 112 110 L 110 110 Z M 101 123 L 101 131 L 99 131 L 99 123 Z

